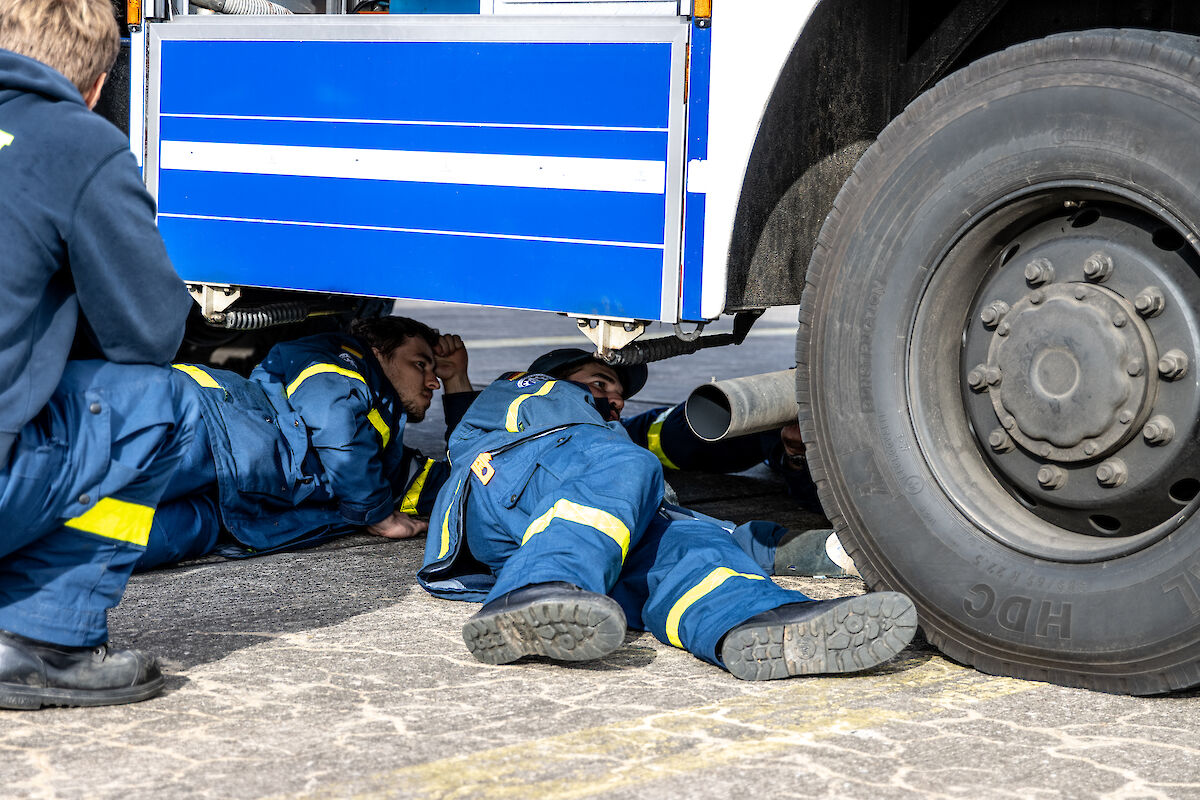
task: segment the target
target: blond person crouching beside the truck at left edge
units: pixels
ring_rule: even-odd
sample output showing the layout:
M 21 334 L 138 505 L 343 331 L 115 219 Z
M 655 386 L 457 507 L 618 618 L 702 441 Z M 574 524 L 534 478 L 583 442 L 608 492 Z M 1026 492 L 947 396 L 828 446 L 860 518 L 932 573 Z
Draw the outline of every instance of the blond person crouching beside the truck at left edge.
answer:
M 163 682 L 108 648 L 107 610 L 198 413 L 137 366 L 170 360 L 191 300 L 128 140 L 90 110 L 119 36 L 108 0 L 0 0 L 0 708 Z

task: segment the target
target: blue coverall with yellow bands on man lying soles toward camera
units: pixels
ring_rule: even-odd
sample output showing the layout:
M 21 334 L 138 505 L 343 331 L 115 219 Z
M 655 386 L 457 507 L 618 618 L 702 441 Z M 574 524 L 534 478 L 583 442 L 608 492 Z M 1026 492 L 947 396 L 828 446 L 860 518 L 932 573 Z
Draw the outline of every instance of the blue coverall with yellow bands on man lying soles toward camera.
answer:
M 450 438 L 418 581 L 494 600 L 551 581 L 617 600 L 632 628 L 720 664 L 730 628 L 808 597 L 772 583 L 715 522 L 662 506 L 662 468 L 583 386 L 502 378 Z

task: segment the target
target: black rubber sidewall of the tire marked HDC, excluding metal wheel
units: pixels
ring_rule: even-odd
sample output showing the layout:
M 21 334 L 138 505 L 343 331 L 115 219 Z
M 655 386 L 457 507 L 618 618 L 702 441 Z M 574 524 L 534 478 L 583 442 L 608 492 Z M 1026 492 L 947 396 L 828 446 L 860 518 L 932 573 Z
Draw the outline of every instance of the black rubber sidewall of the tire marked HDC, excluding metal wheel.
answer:
M 1018 553 L 947 497 L 910 416 L 910 345 L 930 265 L 990 204 L 1086 179 L 1200 221 L 1195 88 L 1099 56 L 1068 66 L 1055 47 L 1002 54 L 990 73 L 938 86 L 859 164 L 817 255 L 811 384 L 829 488 L 866 572 L 911 594 L 952 655 L 1106 687 L 1097 654 L 1141 664 L 1133 672 L 1169 669 L 1200 639 L 1187 596 L 1200 593 L 1200 524 L 1103 567 Z M 944 434 L 976 446 L 968 432 Z

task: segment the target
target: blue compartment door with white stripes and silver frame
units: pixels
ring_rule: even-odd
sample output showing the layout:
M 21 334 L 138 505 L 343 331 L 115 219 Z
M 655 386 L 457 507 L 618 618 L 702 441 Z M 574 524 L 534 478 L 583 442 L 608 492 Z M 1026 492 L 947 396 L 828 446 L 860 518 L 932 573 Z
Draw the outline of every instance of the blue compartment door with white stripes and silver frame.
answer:
M 678 319 L 685 22 L 449 19 L 152 26 L 184 279 Z

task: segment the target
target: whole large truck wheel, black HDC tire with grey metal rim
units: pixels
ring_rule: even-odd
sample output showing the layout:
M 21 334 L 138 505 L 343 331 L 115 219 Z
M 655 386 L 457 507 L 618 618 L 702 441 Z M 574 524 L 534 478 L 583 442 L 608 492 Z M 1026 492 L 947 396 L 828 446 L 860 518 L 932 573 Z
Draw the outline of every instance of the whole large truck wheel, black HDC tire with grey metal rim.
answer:
M 1172 34 L 983 59 L 839 194 L 800 309 L 802 429 L 868 583 L 912 596 L 948 656 L 1200 684 L 1198 234 L 1200 40 Z

